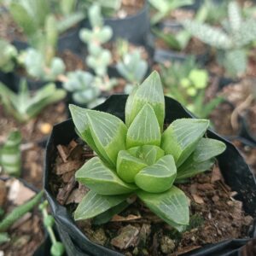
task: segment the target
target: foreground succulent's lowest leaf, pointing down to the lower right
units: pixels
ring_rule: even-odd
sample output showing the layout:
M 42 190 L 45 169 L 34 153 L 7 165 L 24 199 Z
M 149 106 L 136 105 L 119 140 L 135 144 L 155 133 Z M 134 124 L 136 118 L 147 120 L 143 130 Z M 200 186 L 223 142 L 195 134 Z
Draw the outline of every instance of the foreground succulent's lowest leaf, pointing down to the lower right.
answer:
M 139 190 L 137 195 L 152 212 L 177 230 L 181 231 L 184 225 L 189 224 L 189 201 L 183 191 L 177 187 L 172 186 L 171 189 L 160 194 Z

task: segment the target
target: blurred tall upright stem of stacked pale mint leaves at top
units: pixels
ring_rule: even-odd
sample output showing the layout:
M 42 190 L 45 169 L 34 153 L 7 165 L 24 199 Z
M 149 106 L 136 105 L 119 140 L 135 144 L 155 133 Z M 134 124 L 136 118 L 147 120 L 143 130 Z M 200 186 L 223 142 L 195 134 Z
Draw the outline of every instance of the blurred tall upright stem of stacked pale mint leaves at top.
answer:
M 96 73 L 97 84 L 100 84 L 102 90 L 110 90 L 116 85 L 115 79 L 108 78 L 108 65 L 112 61 L 112 55 L 102 44 L 112 38 L 113 32 L 110 26 L 104 26 L 101 7 L 98 4 L 94 3 L 90 7 L 88 16 L 91 30 L 83 28 L 80 31 L 80 38 L 87 44 L 89 53 L 86 64 Z

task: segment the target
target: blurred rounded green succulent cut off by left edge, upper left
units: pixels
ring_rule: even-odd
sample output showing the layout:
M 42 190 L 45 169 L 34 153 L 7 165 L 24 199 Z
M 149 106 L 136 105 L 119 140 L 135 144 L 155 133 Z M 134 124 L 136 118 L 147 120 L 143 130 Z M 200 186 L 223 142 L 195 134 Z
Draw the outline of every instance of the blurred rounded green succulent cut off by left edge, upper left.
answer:
M 0 39 L 0 70 L 4 73 L 12 72 L 15 68 L 15 59 L 18 55 L 15 46 Z

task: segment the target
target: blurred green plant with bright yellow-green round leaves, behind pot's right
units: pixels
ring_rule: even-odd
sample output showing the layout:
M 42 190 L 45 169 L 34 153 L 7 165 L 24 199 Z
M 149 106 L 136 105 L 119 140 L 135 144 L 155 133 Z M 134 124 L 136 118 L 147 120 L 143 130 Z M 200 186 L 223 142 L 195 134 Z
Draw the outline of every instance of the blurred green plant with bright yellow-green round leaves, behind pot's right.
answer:
M 195 57 L 190 57 L 183 63 L 176 61 L 172 65 L 161 66 L 160 73 L 166 88 L 166 95 L 181 102 L 197 117 L 207 118 L 212 110 L 223 101 L 220 96 L 206 101 L 209 75 L 206 69 L 198 67 Z

